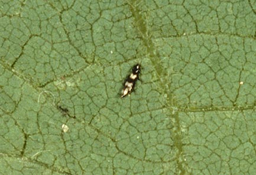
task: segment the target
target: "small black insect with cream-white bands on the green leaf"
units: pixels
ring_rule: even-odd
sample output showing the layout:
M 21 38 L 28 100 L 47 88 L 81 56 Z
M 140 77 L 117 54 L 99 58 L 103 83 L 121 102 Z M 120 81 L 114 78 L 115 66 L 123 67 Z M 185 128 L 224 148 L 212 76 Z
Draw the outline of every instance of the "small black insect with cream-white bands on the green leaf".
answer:
M 127 77 L 127 79 L 124 82 L 124 89 L 122 89 L 121 98 L 129 95 L 132 92 L 132 90 L 134 90 L 136 81 L 140 80 L 139 79 L 140 72 L 141 72 L 140 64 L 136 64 L 134 67 L 132 67 L 132 73 Z

